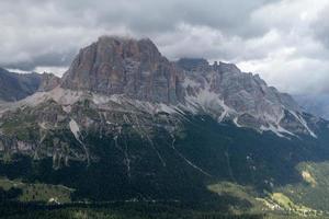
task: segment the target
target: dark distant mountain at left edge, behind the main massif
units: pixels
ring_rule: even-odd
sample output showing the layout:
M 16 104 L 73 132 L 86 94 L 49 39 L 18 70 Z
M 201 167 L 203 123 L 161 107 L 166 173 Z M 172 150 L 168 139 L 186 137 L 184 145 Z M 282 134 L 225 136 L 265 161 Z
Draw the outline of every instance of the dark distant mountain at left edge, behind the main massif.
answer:
M 19 101 L 39 89 L 49 91 L 58 84 L 59 78 L 54 74 L 14 73 L 0 68 L 0 101 Z

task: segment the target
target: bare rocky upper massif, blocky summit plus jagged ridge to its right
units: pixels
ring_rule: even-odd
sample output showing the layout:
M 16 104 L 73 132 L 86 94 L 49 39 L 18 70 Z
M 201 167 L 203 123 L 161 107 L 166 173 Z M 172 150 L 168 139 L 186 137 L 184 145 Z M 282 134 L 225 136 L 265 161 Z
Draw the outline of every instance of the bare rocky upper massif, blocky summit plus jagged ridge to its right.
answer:
M 149 39 L 100 37 L 80 50 L 61 88 L 204 111 L 218 122 L 231 119 L 260 131 L 315 136 L 298 104 L 269 88 L 259 76 L 242 73 L 230 64 L 211 66 L 202 59 L 174 65 Z

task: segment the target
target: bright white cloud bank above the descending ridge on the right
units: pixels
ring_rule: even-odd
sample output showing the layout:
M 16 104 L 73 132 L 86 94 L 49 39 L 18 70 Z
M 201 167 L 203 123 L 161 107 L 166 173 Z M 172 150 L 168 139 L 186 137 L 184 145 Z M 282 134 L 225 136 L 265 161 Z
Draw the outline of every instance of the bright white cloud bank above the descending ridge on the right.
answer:
M 257 41 L 257 44 L 264 42 L 261 44 L 263 56 L 241 60 L 239 66 L 243 70 L 259 72 L 270 84 L 290 93 L 328 92 L 328 49 L 314 37 L 313 28 L 319 12 L 328 3 L 325 0 L 317 3 L 311 0 L 283 0 L 254 11 L 252 19 L 258 20 L 259 25 L 274 30 L 275 37 L 266 42 L 264 35 L 263 39 Z

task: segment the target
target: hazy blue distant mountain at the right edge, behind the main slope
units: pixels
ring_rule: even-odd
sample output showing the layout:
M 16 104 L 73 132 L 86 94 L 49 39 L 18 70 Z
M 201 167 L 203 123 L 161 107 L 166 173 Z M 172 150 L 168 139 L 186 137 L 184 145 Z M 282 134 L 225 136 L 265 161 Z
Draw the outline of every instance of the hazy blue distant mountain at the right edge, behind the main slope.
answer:
M 295 95 L 294 97 L 307 112 L 329 119 L 329 94 Z

